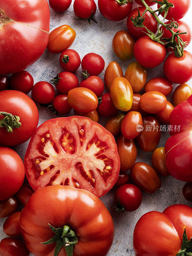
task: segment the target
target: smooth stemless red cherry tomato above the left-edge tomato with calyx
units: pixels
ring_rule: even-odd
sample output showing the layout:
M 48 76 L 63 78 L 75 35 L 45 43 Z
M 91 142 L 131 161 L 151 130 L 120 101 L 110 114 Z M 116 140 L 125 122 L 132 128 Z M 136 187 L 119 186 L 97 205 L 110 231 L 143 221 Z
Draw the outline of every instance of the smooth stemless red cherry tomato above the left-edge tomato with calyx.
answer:
M 41 81 L 33 86 L 31 96 L 37 103 L 48 104 L 55 98 L 55 89 L 50 83 Z

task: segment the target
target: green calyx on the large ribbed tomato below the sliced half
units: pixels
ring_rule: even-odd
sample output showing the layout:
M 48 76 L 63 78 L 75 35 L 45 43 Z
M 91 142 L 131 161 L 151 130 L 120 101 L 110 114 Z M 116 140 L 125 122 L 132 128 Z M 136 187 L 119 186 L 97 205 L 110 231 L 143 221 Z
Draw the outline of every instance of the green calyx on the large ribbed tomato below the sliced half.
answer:
M 75 232 L 69 228 L 69 226 L 64 226 L 63 228 L 54 228 L 49 224 L 51 230 L 56 234 L 49 241 L 41 244 L 52 244 L 56 242 L 56 247 L 53 256 L 57 256 L 64 246 L 67 256 L 73 256 L 73 246 L 77 244 L 78 239 Z

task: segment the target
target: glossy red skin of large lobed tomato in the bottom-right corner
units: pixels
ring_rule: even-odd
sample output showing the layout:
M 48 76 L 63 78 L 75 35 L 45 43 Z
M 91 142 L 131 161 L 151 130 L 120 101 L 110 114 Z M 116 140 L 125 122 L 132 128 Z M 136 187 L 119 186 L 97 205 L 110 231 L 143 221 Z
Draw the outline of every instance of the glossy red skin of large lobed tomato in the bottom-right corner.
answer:
M 181 249 L 184 228 L 189 240 L 192 236 L 191 218 L 192 209 L 185 204 L 145 213 L 133 232 L 135 255 L 175 256 Z

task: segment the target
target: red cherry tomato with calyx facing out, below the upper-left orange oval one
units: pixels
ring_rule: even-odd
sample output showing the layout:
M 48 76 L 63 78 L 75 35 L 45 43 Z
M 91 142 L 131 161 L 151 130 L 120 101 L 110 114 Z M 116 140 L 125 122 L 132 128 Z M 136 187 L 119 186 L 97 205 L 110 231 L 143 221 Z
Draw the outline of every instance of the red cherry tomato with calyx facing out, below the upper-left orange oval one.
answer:
M 79 53 L 75 50 L 65 50 L 60 55 L 60 66 L 62 69 L 75 72 L 81 65 Z

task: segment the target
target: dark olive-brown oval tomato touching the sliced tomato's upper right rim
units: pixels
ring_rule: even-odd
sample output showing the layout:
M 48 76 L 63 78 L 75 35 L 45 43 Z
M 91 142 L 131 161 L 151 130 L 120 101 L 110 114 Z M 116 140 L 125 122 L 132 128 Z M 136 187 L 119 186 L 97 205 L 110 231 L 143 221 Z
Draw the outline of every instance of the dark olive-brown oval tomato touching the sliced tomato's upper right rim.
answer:
M 114 137 L 117 136 L 121 132 L 121 123 L 124 117 L 125 115 L 123 114 L 118 114 L 114 117 L 111 117 L 107 121 L 105 129 L 108 130 Z

